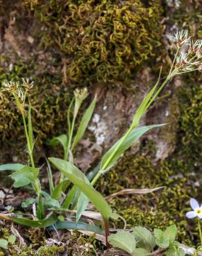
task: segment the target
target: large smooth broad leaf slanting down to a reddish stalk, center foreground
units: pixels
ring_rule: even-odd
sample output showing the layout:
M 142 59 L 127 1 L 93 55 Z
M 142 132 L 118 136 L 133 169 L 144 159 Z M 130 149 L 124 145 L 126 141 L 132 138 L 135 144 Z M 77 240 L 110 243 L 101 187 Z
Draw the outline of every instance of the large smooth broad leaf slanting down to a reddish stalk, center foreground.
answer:
M 102 214 L 104 219 L 113 217 L 111 207 L 104 199 L 104 197 L 96 191 L 86 176 L 75 165 L 64 161 L 59 158 L 49 158 L 50 163 L 53 163 L 60 172 L 62 172 L 77 188 L 80 188 L 82 192 L 89 198 L 91 203 L 95 205 L 95 208 Z

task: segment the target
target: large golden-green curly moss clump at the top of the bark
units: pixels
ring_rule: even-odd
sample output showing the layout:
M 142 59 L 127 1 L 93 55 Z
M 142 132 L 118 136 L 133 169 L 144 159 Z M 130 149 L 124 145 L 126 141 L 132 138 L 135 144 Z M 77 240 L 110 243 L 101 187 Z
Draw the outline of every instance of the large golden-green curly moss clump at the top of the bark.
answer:
M 126 85 L 160 46 L 159 0 L 24 1 L 45 26 L 44 45 L 62 55 L 71 84 Z

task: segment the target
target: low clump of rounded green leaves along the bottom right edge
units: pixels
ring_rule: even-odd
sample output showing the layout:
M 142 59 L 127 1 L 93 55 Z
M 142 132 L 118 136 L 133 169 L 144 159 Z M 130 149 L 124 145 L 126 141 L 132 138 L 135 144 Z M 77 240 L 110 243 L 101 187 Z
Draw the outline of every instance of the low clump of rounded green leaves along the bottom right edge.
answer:
M 171 255 L 171 252 L 173 255 L 185 255 L 180 248 L 181 245 L 174 241 L 177 233 L 175 225 L 167 227 L 164 232 L 154 229 L 154 235 L 147 228 L 141 226 L 137 226 L 133 230 L 134 232 L 122 230 L 110 235 L 110 244 L 133 256 Z M 159 241 L 161 242 L 158 243 Z

